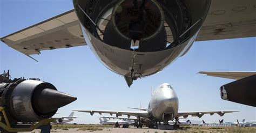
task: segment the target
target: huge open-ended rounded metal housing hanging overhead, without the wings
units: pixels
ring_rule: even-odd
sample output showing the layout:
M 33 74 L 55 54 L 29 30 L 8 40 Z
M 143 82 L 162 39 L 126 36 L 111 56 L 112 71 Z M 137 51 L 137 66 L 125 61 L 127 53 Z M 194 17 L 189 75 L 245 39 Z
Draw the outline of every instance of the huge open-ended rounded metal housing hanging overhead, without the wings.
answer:
M 73 4 L 87 44 L 130 86 L 186 53 L 211 0 L 73 0 Z

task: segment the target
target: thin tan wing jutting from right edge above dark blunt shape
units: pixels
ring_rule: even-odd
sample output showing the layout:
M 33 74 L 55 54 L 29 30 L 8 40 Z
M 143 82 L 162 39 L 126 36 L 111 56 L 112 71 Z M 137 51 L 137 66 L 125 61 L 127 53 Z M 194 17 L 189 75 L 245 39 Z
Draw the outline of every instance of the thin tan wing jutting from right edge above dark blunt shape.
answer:
M 230 79 L 242 79 L 245 77 L 249 77 L 252 75 L 256 75 L 256 72 L 251 71 L 251 72 L 235 72 L 235 71 L 230 71 L 230 72 L 219 72 L 219 71 L 200 71 L 198 72 L 200 74 L 206 74 L 207 76 L 213 76 L 213 77 L 221 77 L 221 78 L 230 78 Z

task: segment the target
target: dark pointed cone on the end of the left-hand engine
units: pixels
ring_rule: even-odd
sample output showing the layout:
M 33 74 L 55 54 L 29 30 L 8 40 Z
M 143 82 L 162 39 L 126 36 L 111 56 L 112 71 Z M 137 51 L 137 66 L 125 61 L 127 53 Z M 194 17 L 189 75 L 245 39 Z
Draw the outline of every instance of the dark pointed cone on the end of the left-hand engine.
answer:
M 33 106 L 41 113 L 49 113 L 77 100 L 72 95 L 45 88 L 33 94 Z

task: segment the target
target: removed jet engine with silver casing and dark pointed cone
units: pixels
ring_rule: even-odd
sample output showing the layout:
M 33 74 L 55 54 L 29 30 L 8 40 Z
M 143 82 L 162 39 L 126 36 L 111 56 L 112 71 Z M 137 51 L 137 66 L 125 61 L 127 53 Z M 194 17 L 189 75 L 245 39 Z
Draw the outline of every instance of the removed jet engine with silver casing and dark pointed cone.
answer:
M 50 83 L 25 79 L 0 83 L 0 98 L 0 106 L 4 107 L 10 125 L 50 118 L 58 108 L 77 99 L 57 91 Z

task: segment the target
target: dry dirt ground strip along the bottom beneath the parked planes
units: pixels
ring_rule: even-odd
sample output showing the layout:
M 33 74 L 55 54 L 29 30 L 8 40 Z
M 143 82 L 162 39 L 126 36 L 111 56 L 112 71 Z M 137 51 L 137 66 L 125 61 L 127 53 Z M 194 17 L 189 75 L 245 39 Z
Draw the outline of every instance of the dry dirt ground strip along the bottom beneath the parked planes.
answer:
M 39 133 L 40 130 L 34 130 L 31 133 Z M 112 128 L 112 127 L 95 127 L 93 128 L 85 126 L 85 127 L 53 127 L 51 129 L 51 132 L 75 132 L 75 133 L 82 133 L 82 132 L 107 132 L 107 133 L 146 133 L 146 132 L 152 132 L 152 133 L 169 133 L 169 132 L 255 132 L 256 133 L 256 127 L 252 128 L 245 128 L 245 127 L 198 127 L 198 126 L 184 126 L 181 127 L 178 130 L 159 130 L 159 129 L 149 129 L 147 127 L 144 127 L 142 129 L 140 128 Z M 24 132 L 23 132 L 24 133 Z M 27 133 L 27 132 L 26 132 Z

